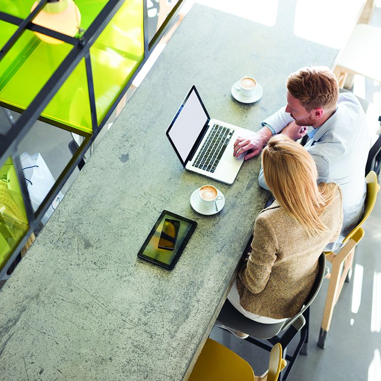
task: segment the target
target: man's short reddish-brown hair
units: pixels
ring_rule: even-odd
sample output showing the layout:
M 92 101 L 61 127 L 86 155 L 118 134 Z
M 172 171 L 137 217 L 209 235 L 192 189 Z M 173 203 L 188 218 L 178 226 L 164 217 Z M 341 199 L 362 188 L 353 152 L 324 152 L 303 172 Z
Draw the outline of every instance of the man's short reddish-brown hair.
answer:
M 286 86 L 307 111 L 336 108 L 339 85 L 335 74 L 326 66 L 303 67 L 288 76 Z

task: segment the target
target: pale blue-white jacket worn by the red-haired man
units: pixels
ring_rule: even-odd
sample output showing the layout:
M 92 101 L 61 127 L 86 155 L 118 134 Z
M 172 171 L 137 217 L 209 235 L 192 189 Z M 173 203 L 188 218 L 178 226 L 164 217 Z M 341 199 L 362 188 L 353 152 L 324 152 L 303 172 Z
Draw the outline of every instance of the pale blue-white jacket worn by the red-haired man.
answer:
M 262 125 L 271 126 L 270 131 L 274 134 L 281 132 L 292 120 L 283 107 Z M 371 148 L 371 132 L 356 96 L 340 94 L 336 112 L 308 136 L 304 148 L 315 160 L 318 182 L 339 184 L 343 196 L 344 219 L 340 238 L 336 244 L 326 247 L 326 250 L 336 250 L 360 220 L 367 190 L 365 165 Z M 258 181 L 268 189 L 262 168 Z

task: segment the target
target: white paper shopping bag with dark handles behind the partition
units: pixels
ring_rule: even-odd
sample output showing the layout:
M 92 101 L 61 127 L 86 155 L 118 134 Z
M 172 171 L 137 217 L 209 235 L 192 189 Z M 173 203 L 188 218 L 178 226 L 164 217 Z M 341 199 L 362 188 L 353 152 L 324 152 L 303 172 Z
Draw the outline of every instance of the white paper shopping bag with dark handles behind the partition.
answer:
M 24 152 L 20 156 L 20 161 L 27 183 L 30 202 L 32 204 L 33 211 L 36 212 L 49 193 L 51 187 L 55 184 L 56 180 L 42 158 L 41 153 L 38 152 L 33 155 L 29 155 Z M 47 222 L 62 198 L 63 194 L 59 192 L 42 217 L 41 222 L 43 224 Z

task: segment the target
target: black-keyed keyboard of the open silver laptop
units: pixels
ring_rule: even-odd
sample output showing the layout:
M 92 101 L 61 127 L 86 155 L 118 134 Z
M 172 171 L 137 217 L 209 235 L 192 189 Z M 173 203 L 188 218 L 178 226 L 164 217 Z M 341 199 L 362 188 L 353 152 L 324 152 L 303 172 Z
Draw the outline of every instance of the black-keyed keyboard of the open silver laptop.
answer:
M 214 124 L 192 166 L 213 173 L 233 133 L 230 128 Z

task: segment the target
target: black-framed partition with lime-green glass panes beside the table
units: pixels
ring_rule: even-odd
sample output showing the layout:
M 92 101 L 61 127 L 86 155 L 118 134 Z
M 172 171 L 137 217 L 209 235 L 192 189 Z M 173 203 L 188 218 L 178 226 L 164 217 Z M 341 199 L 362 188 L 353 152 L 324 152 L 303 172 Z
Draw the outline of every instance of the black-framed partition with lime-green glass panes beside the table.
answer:
M 31 20 L 39 2 L 0 0 L 0 280 L 84 165 L 183 0 L 47 0 Z M 29 183 L 37 171 L 24 167 L 41 158 L 51 176 L 37 198 Z

